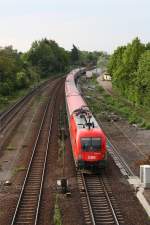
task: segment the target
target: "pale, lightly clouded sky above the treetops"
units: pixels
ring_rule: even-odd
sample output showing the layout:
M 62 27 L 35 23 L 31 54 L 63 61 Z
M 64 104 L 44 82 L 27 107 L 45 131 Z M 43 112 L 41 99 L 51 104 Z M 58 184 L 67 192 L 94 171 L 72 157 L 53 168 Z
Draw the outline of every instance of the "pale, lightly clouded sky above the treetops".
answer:
M 70 50 L 113 51 L 150 42 L 150 0 L 0 0 L 0 46 L 27 51 L 35 40 Z

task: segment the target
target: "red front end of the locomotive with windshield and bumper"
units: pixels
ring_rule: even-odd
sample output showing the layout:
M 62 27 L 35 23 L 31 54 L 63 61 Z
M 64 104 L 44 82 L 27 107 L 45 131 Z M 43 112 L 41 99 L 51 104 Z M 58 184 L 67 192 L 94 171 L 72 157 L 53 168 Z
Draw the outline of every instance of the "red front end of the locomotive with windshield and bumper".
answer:
M 80 130 L 77 134 L 79 168 L 104 168 L 106 166 L 106 138 L 100 129 Z

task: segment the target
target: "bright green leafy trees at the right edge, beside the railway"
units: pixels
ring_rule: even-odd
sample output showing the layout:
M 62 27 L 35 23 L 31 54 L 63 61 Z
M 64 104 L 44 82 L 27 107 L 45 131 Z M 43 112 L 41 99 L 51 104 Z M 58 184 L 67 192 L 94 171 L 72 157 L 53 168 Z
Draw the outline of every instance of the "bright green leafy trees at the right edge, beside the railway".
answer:
M 138 38 L 118 47 L 108 63 L 113 87 L 133 105 L 150 106 L 150 43 Z

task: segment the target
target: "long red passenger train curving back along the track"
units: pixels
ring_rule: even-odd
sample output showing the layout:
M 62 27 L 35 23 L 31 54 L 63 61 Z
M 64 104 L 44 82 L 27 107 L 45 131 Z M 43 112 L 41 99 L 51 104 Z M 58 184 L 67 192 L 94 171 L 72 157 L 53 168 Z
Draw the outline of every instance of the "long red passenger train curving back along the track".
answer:
M 107 163 L 106 136 L 77 88 L 85 69 L 71 71 L 65 81 L 66 109 L 76 167 L 104 168 Z

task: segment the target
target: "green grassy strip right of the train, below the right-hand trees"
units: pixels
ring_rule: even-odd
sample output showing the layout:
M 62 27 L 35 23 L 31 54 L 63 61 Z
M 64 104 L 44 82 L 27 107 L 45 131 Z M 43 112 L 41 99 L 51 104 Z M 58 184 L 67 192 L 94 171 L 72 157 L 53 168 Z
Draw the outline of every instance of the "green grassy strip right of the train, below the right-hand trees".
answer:
M 99 86 L 95 78 L 89 79 L 85 84 L 85 80 L 81 80 L 83 86 L 83 92 L 86 96 L 88 105 L 95 115 L 104 117 L 103 112 L 110 114 L 116 113 L 118 116 L 125 118 L 130 124 L 137 124 L 141 128 L 150 129 L 150 109 L 144 109 L 144 107 L 135 107 L 125 98 L 122 98 L 115 93 L 111 96 L 105 92 L 105 90 Z M 84 85 L 86 88 L 84 89 Z M 88 87 L 95 86 L 94 91 Z

